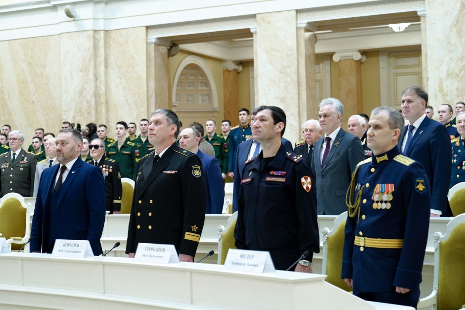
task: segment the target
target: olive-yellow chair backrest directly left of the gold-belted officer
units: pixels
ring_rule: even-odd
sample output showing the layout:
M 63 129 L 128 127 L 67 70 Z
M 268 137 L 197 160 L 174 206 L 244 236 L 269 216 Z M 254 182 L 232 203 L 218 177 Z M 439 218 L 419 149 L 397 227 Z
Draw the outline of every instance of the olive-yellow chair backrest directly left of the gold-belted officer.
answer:
M 326 274 L 326 281 L 345 291 L 352 289 L 341 279 L 342 252 L 344 248 L 344 228 L 347 212 L 334 220 L 332 230 L 323 228 L 323 266 L 322 273 Z

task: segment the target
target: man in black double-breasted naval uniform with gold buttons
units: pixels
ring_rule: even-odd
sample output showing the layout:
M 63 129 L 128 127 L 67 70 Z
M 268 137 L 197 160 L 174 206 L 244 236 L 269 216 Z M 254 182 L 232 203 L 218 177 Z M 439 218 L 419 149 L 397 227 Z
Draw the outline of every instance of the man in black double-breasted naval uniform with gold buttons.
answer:
M 173 244 L 182 262 L 193 262 L 205 221 L 206 184 L 197 155 L 176 145 L 178 115 L 158 109 L 148 139 L 155 151 L 139 160 L 126 253 L 139 242 Z

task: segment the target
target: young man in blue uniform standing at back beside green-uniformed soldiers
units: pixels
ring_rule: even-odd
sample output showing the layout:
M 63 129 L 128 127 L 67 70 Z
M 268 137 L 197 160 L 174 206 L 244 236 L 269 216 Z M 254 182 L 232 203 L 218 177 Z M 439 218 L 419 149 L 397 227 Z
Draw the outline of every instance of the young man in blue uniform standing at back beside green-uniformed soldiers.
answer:
M 229 176 L 233 177 L 234 173 L 234 163 L 235 163 L 235 154 L 237 151 L 237 146 L 252 138 L 252 131 L 249 125 L 250 112 L 246 108 L 239 110 L 239 125 L 233 127 L 229 134 L 229 143 L 228 143 L 228 172 Z

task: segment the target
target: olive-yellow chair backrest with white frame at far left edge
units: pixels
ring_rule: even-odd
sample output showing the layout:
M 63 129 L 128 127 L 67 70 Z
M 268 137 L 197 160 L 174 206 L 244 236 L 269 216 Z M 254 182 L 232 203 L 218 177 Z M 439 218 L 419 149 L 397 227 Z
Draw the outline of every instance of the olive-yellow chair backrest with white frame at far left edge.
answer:
M 1 236 L 6 238 L 20 238 L 21 241 L 27 235 L 26 217 L 29 214 L 26 212 L 27 208 L 24 204 L 24 198 L 17 193 L 8 193 L 1 199 L 0 205 L 0 233 Z M 12 250 L 19 250 L 23 243 L 11 245 Z

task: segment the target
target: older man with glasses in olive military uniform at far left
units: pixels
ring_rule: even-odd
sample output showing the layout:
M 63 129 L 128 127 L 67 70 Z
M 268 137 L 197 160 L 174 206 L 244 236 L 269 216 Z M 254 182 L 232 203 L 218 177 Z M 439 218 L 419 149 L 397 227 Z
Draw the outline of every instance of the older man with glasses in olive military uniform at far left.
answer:
M 13 130 L 8 133 L 10 151 L 0 156 L 0 196 L 18 193 L 23 197 L 34 194 L 37 159 L 34 153 L 21 148 L 24 135 Z

